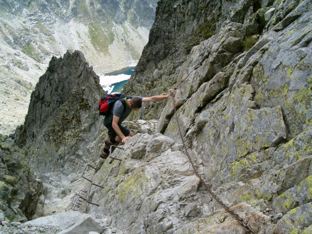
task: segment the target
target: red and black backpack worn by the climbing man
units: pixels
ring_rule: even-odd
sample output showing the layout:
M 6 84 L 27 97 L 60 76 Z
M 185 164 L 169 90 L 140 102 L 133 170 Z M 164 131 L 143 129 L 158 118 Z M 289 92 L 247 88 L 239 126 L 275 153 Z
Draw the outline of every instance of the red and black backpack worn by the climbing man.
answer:
M 100 115 L 110 115 L 111 114 L 111 110 L 114 106 L 114 103 L 117 100 L 120 100 L 122 105 L 123 105 L 123 112 L 124 113 L 126 111 L 126 101 L 124 100 L 126 96 L 124 94 L 109 94 L 109 95 L 105 95 L 103 96 L 100 101 L 99 101 L 99 112 Z

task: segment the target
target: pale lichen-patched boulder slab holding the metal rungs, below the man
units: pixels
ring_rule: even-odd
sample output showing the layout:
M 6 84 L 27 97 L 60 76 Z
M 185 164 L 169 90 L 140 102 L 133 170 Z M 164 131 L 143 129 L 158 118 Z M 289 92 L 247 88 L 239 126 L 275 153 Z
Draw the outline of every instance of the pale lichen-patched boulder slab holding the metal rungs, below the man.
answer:
M 99 207 L 85 202 L 81 211 L 109 220 L 117 233 L 245 233 L 240 223 L 207 194 L 182 151 L 183 145 L 160 133 L 138 133 L 122 147 L 125 149 L 116 149 L 113 154 L 121 162 L 106 160 L 99 171 L 88 175 L 104 189 L 94 187 L 91 191 L 92 202 Z M 191 149 L 189 152 L 203 174 L 200 155 Z M 241 191 L 246 188 L 242 182 L 235 186 Z M 216 193 L 223 195 L 225 191 L 220 187 Z M 230 194 L 226 195 L 222 199 L 230 200 Z M 250 220 L 257 233 L 273 229 L 271 216 L 263 213 L 263 207 L 238 202 L 231 209 Z

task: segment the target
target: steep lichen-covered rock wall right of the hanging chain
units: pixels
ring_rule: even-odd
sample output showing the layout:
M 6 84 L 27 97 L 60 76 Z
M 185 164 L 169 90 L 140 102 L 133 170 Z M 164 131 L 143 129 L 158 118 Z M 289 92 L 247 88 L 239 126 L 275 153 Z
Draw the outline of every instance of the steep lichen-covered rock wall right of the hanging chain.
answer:
M 177 112 L 169 100 L 162 113 L 153 104 L 133 118 L 159 118 L 158 131 L 175 143 L 179 123 L 222 200 L 260 207 L 267 224 L 263 232 L 251 224 L 257 233 L 309 233 L 312 224 L 310 8 L 310 1 L 161 1 L 125 88 L 143 96 L 177 88 Z M 180 231 L 213 225 L 190 222 Z M 237 233 L 224 225 L 220 233 Z

